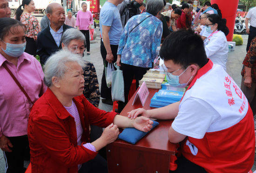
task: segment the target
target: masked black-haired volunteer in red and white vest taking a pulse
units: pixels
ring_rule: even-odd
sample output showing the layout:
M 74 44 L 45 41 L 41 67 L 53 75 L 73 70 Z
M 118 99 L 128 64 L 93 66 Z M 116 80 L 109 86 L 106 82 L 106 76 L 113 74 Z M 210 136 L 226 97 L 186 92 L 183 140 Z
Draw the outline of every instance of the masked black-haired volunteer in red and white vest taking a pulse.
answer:
M 192 31 L 171 33 L 160 57 L 168 82 L 189 86 L 188 90 L 180 102 L 135 109 L 128 116 L 174 119 L 166 137 L 181 142 L 175 173 L 248 173 L 254 162 L 255 133 L 253 114 L 241 89 L 221 65 L 207 58 L 202 38 Z

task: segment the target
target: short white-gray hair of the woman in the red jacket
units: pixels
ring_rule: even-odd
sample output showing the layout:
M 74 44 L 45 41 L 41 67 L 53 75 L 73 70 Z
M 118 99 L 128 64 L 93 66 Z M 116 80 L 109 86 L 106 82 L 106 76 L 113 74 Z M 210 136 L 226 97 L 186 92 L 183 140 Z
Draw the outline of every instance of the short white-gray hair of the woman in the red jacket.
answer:
M 85 66 L 85 61 L 80 55 L 74 54 L 71 51 L 57 51 L 50 56 L 44 65 L 44 83 L 47 87 L 52 86 L 53 77 L 63 77 L 67 72 L 67 63 L 76 62 L 81 65 L 82 68 Z

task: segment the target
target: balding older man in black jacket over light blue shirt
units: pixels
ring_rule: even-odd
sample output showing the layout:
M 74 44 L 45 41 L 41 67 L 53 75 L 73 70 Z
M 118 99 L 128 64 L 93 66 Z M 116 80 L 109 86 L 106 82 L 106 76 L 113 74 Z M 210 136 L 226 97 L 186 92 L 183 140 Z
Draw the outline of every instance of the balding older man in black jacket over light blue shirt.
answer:
M 41 65 L 45 64 L 47 58 L 55 51 L 61 49 L 61 36 L 65 30 L 72 28 L 64 24 L 66 16 L 64 8 L 58 3 L 51 3 L 47 6 L 47 17 L 50 25 L 39 32 L 37 36 L 37 51 L 40 56 Z

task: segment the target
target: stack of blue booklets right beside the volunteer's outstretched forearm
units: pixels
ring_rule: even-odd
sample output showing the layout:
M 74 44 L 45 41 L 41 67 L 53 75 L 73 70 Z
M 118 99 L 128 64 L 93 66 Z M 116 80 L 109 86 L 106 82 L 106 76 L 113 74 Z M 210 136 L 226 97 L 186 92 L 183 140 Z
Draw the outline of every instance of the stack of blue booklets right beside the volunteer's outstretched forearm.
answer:
M 159 90 L 151 99 L 150 107 L 161 108 L 182 99 L 183 91 Z

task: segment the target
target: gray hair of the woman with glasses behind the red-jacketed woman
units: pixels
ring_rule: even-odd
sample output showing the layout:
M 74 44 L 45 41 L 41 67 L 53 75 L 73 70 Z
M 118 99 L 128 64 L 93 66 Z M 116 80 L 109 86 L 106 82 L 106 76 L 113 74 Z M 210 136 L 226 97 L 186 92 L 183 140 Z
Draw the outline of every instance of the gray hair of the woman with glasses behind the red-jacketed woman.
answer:
M 61 43 L 63 43 L 65 46 L 68 46 L 69 43 L 72 41 L 72 40 L 81 40 L 82 42 L 84 42 L 84 45 L 85 45 L 85 36 L 84 34 L 77 30 L 77 29 L 74 29 L 74 28 L 70 28 L 70 29 L 67 29 L 61 36 Z

